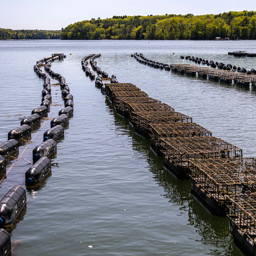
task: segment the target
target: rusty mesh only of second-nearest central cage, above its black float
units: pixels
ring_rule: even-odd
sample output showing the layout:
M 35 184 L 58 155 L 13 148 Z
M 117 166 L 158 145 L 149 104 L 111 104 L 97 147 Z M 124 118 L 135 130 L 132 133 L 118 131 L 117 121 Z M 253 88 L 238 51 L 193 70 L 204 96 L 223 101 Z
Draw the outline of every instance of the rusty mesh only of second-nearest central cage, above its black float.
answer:
M 209 194 L 234 197 L 256 192 L 256 159 L 196 159 L 189 161 L 190 176 Z

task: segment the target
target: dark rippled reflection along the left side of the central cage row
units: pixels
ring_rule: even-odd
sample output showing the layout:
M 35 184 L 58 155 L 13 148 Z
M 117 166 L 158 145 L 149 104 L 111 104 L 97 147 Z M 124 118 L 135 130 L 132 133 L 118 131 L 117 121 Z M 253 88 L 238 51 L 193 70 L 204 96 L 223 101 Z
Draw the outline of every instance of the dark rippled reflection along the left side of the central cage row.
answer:
M 168 198 L 170 203 L 180 206 L 180 209 L 188 212 L 187 225 L 197 229 L 196 232 L 201 236 L 201 240 L 198 240 L 198 242 L 214 248 L 209 249 L 211 250 L 210 255 L 242 255 L 233 243 L 228 218 L 211 215 L 190 193 L 190 181 L 178 180 L 164 169 L 163 158 L 157 157 L 150 149 L 149 140 L 134 133 L 132 125 L 129 124 L 129 119 L 116 114 L 113 105 L 108 100 L 106 100 L 106 104 L 113 113 L 116 131 L 122 131 L 122 134 L 131 137 L 132 148 L 143 153 L 145 160 L 148 162 L 149 170 L 153 174 L 152 177 L 165 192 L 161 196 Z

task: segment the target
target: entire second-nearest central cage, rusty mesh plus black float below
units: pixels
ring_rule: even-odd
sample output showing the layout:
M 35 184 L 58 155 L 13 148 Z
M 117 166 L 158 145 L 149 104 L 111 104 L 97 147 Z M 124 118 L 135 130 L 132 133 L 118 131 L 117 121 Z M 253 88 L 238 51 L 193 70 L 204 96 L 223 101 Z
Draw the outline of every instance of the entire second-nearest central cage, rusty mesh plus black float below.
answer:
M 204 205 L 208 204 L 207 208 L 213 214 L 216 208 L 219 212 L 225 210 L 226 213 L 230 198 L 256 191 L 255 158 L 190 160 L 189 171 L 192 193 Z

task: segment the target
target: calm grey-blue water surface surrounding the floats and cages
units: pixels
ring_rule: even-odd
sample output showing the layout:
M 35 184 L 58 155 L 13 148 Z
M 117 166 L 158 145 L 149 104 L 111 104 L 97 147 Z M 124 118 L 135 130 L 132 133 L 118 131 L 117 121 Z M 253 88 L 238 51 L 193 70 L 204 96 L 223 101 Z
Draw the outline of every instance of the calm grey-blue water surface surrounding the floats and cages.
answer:
M 74 116 L 50 175 L 43 186 L 27 190 L 23 219 L 12 230 L 13 255 L 242 255 L 234 246 L 227 218 L 209 214 L 189 193 L 190 182 L 177 180 L 149 141 L 134 133 L 81 69 L 81 59 L 101 53 L 98 66 L 119 82 L 136 84 L 150 97 L 212 131 L 212 135 L 256 156 L 256 91 L 156 70 L 131 53 L 167 63 L 180 55 L 256 68 L 255 58 L 237 58 L 233 50 L 256 52 L 256 41 L 0 41 L 0 142 L 41 104 L 43 81 L 33 66 L 55 52 L 52 63 L 74 96 Z M 175 53 L 174 55 L 172 53 Z M 70 53 L 72 55 L 70 55 Z M 190 64 L 190 61 L 184 61 Z M 52 80 L 56 83 L 56 80 Z M 63 108 L 59 87 L 52 86 L 48 117 Z M 32 162 L 50 120 L 32 133 L 19 153 Z M 24 187 L 26 161 L 11 160 L 0 183 L 2 197 L 14 184 Z

